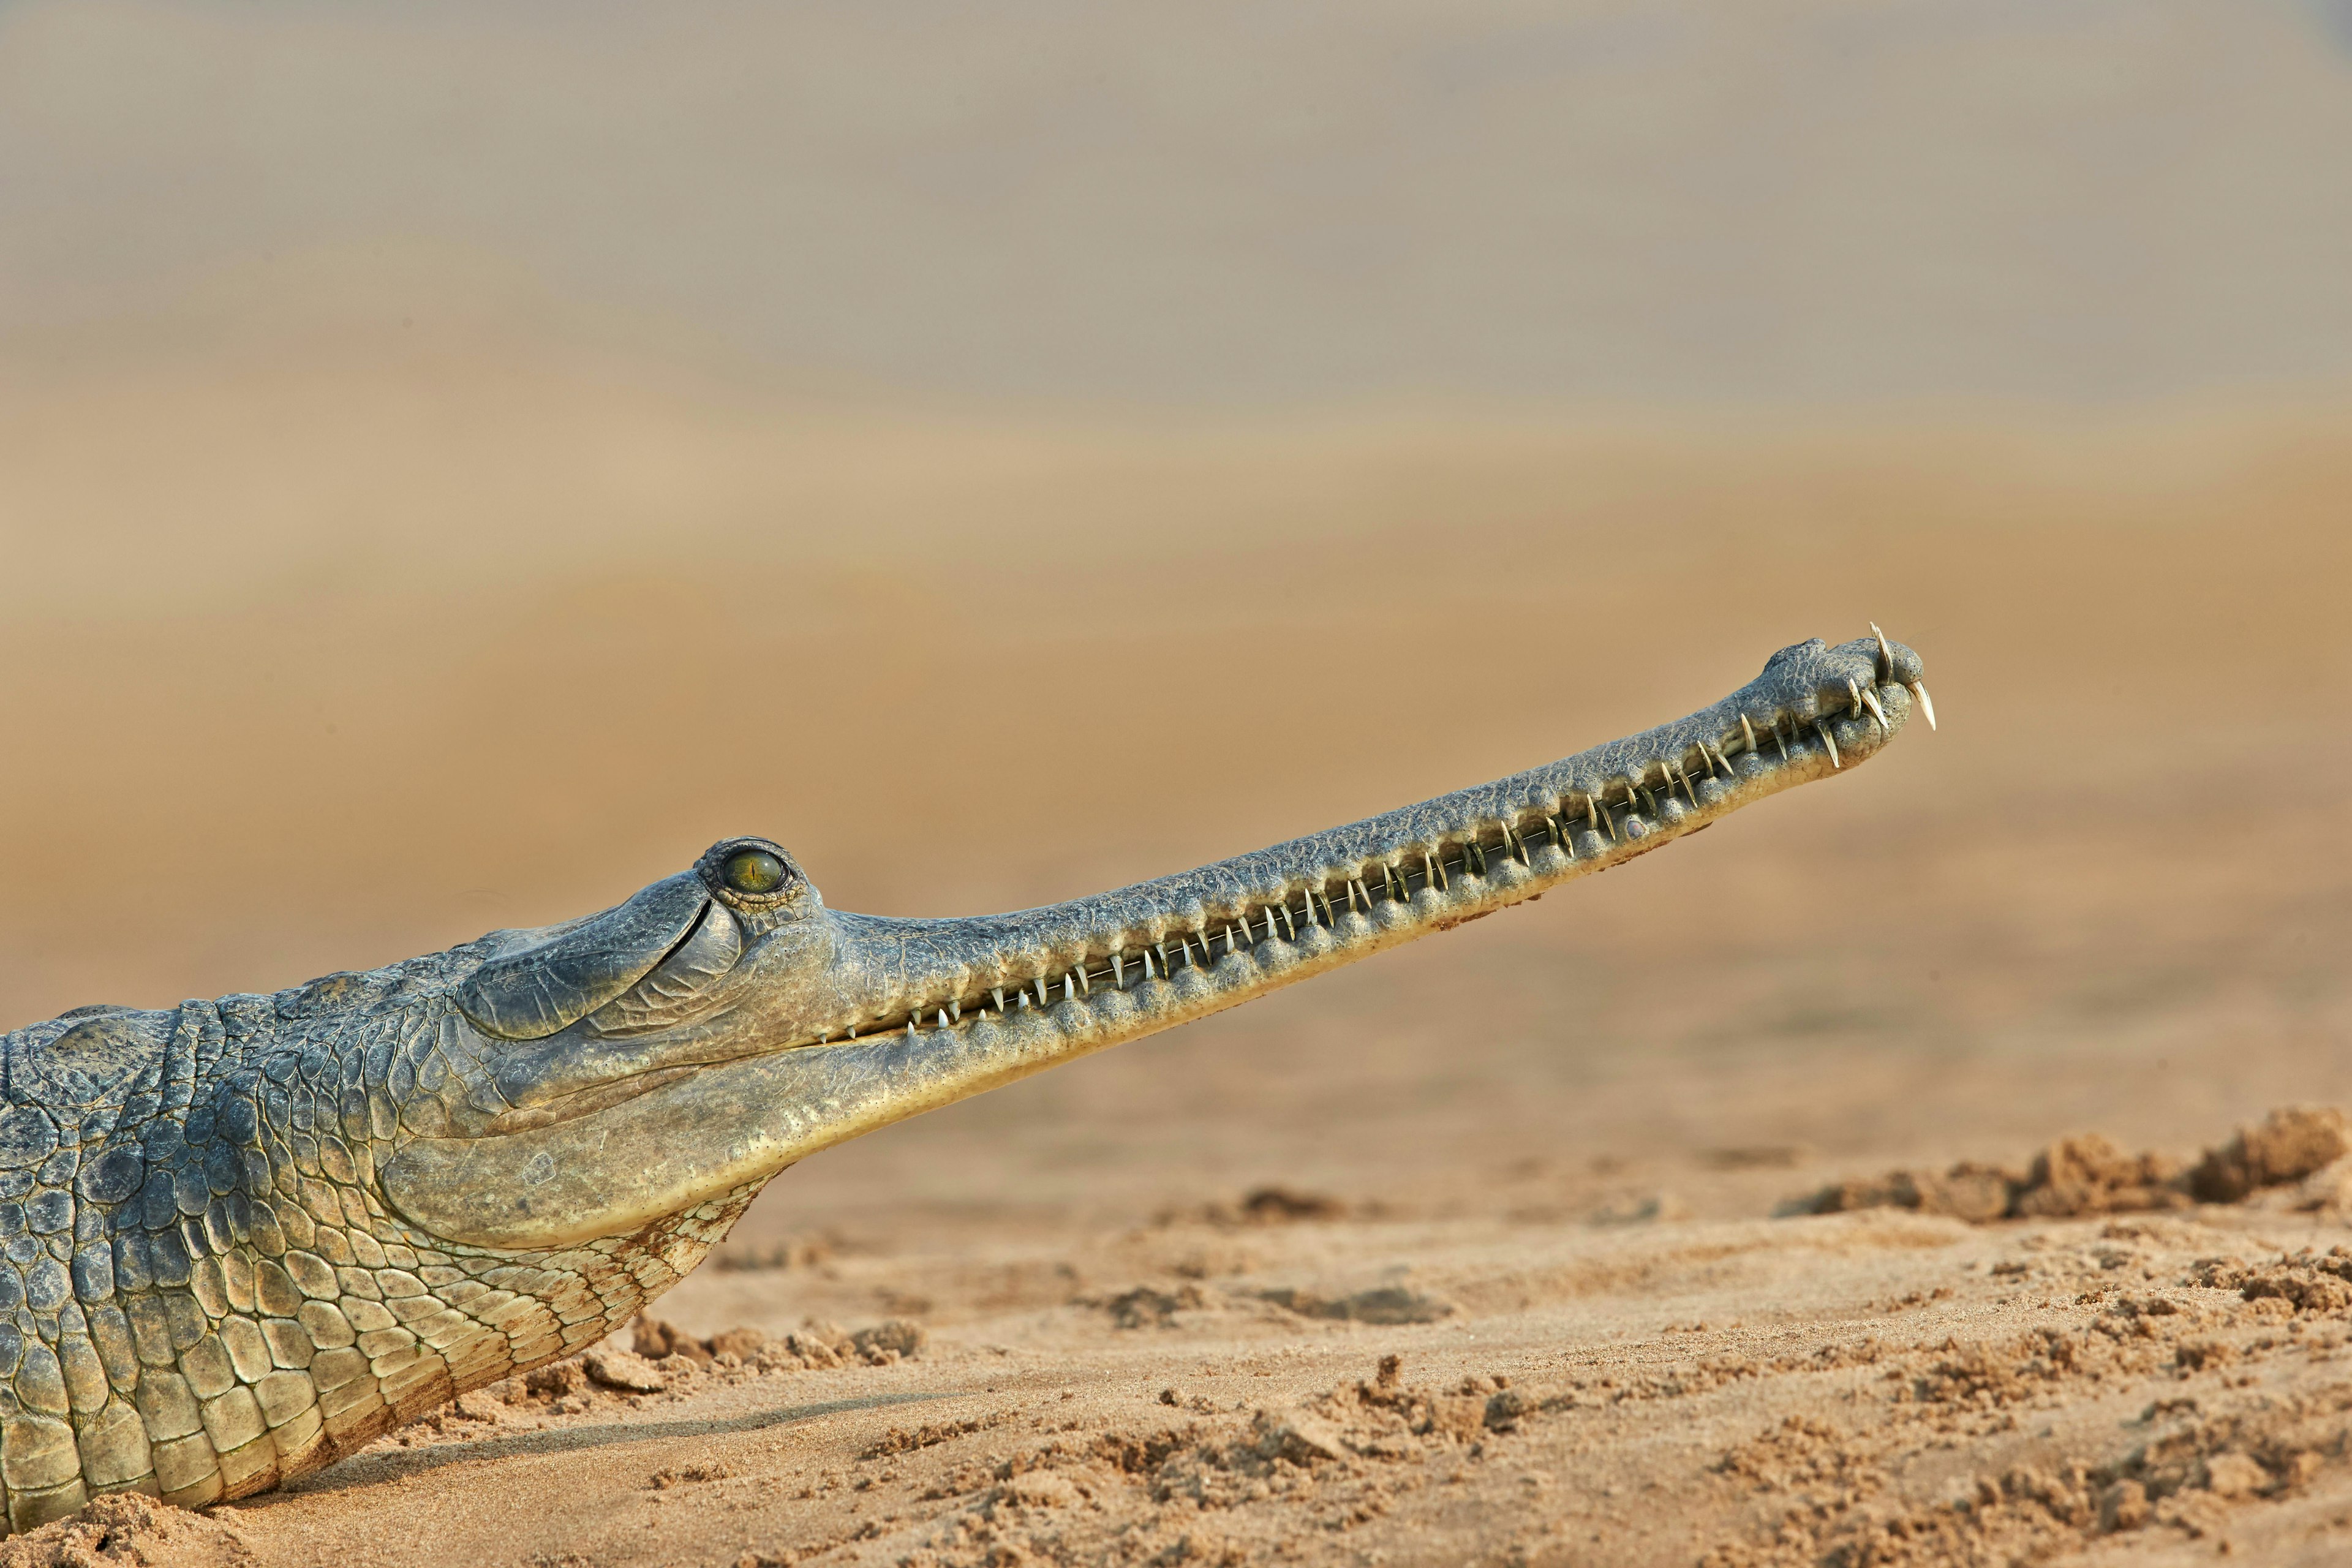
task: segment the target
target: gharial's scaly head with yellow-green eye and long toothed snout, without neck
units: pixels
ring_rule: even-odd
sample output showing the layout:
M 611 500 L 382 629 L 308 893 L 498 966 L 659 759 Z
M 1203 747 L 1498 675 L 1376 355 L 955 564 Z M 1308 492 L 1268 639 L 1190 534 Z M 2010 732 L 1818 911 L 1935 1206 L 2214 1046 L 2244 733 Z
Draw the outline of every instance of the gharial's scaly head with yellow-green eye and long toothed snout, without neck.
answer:
M 1877 632 L 1877 628 L 1872 628 Z M 1178 877 L 1018 914 L 828 910 L 769 839 L 543 931 L 475 943 L 480 1093 L 379 1166 L 475 1248 L 647 1227 L 889 1121 L 1519 903 L 1882 750 L 1926 710 L 1872 635 L 1780 649 L 1686 719 Z M 1926 710 L 1933 724 L 1933 712 Z M 456 973 L 456 971 L 452 971 Z

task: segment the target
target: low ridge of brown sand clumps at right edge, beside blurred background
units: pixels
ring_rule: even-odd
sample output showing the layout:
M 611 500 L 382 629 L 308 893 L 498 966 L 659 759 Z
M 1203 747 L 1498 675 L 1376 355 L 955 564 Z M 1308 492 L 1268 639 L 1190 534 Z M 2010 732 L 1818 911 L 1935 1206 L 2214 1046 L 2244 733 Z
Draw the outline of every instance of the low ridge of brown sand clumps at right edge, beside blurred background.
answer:
M 1983 1225 L 2241 1204 L 2296 1187 L 2284 1206 L 2352 1208 L 2352 1124 L 2336 1107 L 2284 1107 L 2239 1128 L 2197 1164 L 2126 1154 L 2100 1133 L 2058 1138 L 2025 1171 L 1962 1161 L 1832 1182 L 1783 1213 L 1912 1208 Z

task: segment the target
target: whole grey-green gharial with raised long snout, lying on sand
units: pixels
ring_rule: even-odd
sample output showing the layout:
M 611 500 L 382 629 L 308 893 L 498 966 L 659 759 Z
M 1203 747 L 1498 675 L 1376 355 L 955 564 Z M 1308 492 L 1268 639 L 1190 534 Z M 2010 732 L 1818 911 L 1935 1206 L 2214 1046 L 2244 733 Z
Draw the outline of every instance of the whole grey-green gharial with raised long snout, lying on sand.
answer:
M 569 924 L 21 1027 L 7 1523 L 329 1465 L 623 1326 L 797 1159 L 1630 860 L 1915 708 L 1917 654 L 1816 639 L 1675 724 L 1098 898 L 844 914 L 727 839 Z

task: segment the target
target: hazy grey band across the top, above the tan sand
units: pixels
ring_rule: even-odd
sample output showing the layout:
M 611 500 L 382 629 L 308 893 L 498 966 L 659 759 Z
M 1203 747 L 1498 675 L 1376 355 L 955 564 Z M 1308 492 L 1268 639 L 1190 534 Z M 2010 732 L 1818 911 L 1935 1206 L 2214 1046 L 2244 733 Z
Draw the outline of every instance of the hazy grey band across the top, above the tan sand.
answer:
M 2347 16 L 33 0 L 0 346 L 616 331 L 960 404 L 2336 393 Z

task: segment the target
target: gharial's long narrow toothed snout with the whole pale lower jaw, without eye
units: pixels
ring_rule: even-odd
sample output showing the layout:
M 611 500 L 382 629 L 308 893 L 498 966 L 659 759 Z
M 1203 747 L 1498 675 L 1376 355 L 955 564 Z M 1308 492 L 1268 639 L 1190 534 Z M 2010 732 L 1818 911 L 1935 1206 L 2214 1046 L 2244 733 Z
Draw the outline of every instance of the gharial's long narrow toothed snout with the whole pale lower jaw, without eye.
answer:
M 1564 762 L 1178 877 L 1018 914 L 882 919 L 814 907 L 762 954 L 734 1034 L 593 1114 L 421 1138 L 383 1168 L 428 1229 L 567 1246 L 753 1187 L 807 1154 L 1056 1063 L 1237 1006 L 1621 865 L 1877 755 L 1926 710 L 1919 656 L 1797 644 L 1722 703 Z M 1933 724 L 1933 712 L 1926 710 Z M 659 884 L 656 884 L 659 886 Z M 757 1018 L 757 1039 L 743 1039 Z M 687 1046 L 689 1056 L 696 1046 Z

